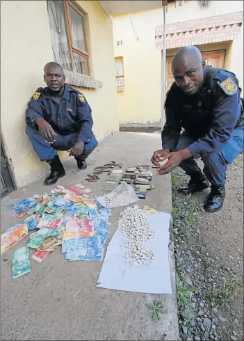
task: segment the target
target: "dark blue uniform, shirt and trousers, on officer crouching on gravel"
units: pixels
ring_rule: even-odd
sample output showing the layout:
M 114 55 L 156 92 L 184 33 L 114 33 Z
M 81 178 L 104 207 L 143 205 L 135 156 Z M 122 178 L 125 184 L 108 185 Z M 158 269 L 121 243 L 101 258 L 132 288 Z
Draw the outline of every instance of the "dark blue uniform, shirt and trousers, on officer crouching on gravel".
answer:
M 190 151 L 193 157 L 179 164 L 187 175 L 200 172 L 195 159 L 201 158 L 209 182 L 225 184 L 227 165 L 243 152 L 240 93 L 236 75 L 219 68 L 206 68 L 202 87 L 195 95 L 187 96 L 175 82 L 172 84 L 165 101 L 162 146 Z

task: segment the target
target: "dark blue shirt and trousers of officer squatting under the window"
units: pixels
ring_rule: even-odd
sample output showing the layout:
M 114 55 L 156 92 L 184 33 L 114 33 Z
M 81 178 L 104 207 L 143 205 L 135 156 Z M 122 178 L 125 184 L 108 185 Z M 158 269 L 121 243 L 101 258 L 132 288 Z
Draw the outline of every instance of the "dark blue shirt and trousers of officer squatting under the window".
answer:
M 57 150 L 70 150 L 74 143 L 83 141 L 84 150 L 79 158 L 86 159 L 97 147 L 92 133 L 92 114 L 85 97 L 78 90 L 65 85 L 60 102 L 49 88 L 38 88 L 26 109 L 26 134 L 41 161 L 54 159 Z M 56 141 L 48 143 L 38 131 L 35 121 L 44 118 L 56 132 Z

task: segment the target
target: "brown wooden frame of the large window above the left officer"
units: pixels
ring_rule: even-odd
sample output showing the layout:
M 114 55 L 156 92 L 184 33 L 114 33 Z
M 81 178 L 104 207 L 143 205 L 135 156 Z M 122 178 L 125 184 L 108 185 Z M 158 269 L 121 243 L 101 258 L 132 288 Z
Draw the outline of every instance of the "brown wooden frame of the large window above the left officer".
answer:
M 86 47 L 88 51 L 82 51 L 81 49 L 77 49 L 76 47 L 73 47 L 73 37 L 72 37 L 72 28 L 71 28 L 71 19 L 70 19 L 70 10 L 69 6 L 72 7 L 81 17 L 84 19 L 84 33 L 85 33 L 85 40 L 86 40 Z M 82 74 L 83 76 L 86 77 L 91 77 L 91 69 L 90 69 L 90 54 L 89 54 L 89 44 L 88 44 L 88 33 L 87 33 L 87 16 L 77 8 L 74 3 L 70 0 L 63 0 L 63 7 L 65 11 L 65 24 L 67 28 L 67 40 L 69 42 L 69 51 L 70 51 L 70 60 L 71 60 L 71 65 L 72 65 L 72 71 L 78 73 L 74 70 L 74 57 L 73 57 L 73 52 L 76 54 L 79 54 L 80 56 L 86 57 L 88 59 L 88 73 L 89 74 Z M 70 71 L 70 70 L 67 70 Z

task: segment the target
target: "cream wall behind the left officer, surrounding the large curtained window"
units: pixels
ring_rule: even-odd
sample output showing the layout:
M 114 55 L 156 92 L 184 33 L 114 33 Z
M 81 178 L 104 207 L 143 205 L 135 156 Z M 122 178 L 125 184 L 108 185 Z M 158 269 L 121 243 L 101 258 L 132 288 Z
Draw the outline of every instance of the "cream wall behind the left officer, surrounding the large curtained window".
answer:
M 113 25 L 97 1 L 79 1 L 88 13 L 92 76 L 98 90 L 79 89 L 86 96 L 98 140 L 118 130 L 114 77 Z M 43 83 L 43 67 L 54 60 L 46 1 L 1 1 L 1 133 L 17 187 L 43 175 L 25 134 L 27 102 Z M 67 153 L 61 153 L 62 159 Z

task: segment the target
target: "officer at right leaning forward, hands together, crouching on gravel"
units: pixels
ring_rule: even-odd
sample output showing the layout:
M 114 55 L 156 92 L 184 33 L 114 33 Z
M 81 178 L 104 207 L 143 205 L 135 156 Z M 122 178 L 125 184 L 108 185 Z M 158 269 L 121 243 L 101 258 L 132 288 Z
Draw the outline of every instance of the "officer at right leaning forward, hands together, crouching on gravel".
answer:
M 206 189 L 211 193 L 204 208 L 217 212 L 225 199 L 227 165 L 243 152 L 243 109 L 238 79 L 232 72 L 205 66 L 197 47 L 183 47 L 172 60 L 174 83 L 165 101 L 166 123 L 162 150 L 152 162 L 168 159 L 157 170 L 168 174 L 181 167 L 190 176 L 181 193 Z M 181 133 L 181 129 L 184 132 Z M 204 162 L 203 173 L 195 159 Z

